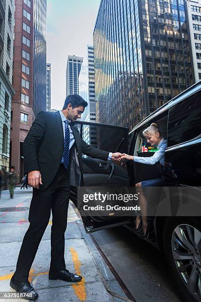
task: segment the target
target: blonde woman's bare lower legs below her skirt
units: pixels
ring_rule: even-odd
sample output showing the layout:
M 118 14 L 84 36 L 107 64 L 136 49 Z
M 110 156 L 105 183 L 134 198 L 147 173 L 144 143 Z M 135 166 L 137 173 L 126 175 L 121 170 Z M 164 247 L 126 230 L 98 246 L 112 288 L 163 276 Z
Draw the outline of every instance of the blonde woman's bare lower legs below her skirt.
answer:
M 144 192 L 142 190 L 142 183 L 137 183 L 135 185 L 137 193 L 139 193 L 139 206 L 140 206 L 140 211 L 141 211 L 141 217 L 142 217 L 142 230 L 144 234 L 146 233 L 147 229 L 147 199 L 146 196 L 144 195 Z M 136 217 L 136 227 L 138 222 L 140 222 L 139 216 Z

